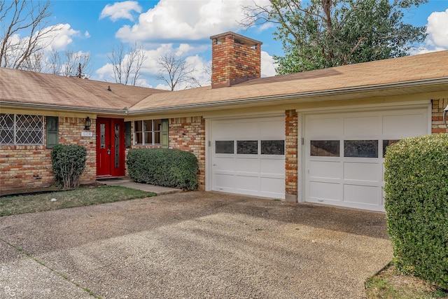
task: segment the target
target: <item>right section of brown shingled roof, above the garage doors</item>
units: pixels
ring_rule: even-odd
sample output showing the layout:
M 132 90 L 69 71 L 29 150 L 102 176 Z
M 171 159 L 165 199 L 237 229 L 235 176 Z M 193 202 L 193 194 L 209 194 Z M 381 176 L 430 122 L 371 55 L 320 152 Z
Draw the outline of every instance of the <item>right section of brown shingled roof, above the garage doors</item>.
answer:
M 408 90 L 402 90 L 403 87 Z M 258 78 L 228 88 L 194 88 L 153 94 L 132 106 L 131 110 L 218 106 L 237 102 L 284 102 L 286 99 L 291 99 L 291 103 L 323 95 L 344 94 L 348 97 L 349 92 L 356 92 L 356 97 L 359 97 L 360 92 L 374 90 L 377 91 L 376 95 L 448 91 L 448 50 Z

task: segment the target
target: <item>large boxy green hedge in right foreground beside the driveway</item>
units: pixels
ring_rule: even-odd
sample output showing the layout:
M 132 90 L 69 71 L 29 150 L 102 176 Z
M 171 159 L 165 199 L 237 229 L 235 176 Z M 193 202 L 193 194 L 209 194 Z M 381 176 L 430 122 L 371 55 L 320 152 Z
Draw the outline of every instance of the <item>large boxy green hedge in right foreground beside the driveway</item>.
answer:
M 388 148 L 385 167 L 396 267 L 448 288 L 448 134 L 403 139 Z

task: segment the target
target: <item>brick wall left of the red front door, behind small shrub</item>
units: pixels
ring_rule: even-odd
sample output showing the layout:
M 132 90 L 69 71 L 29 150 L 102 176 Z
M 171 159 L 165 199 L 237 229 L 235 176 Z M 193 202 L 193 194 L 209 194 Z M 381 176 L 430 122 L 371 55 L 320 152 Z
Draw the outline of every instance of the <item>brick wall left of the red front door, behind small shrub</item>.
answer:
M 97 172 L 95 134 L 94 137 L 80 136 L 84 122 L 85 118 L 59 117 L 59 144 L 80 144 L 87 148 L 87 161 L 81 181 L 94 181 Z M 95 127 L 94 120 L 92 127 Z M 46 135 L 44 140 L 46 142 Z M 51 149 L 45 145 L 0 146 L 0 190 L 52 185 L 54 179 L 50 154 Z

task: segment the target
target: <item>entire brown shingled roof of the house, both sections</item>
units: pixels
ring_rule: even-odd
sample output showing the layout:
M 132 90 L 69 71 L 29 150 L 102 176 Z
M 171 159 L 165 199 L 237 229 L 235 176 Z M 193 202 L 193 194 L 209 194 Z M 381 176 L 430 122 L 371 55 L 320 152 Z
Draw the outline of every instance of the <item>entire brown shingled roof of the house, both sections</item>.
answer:
M 111 91 L 108 90 L 110 86 Z M 48 105 L 129 113 L 201 109 L 244 103 L 311 102 L 318 97 L 349 99 L 448 92 L 448 50 L 258 78 L 231 87 L 167 92 L 121 84 L 0 68 L 1 104 Z M 339 97 L 338 97 L 339 96 Z

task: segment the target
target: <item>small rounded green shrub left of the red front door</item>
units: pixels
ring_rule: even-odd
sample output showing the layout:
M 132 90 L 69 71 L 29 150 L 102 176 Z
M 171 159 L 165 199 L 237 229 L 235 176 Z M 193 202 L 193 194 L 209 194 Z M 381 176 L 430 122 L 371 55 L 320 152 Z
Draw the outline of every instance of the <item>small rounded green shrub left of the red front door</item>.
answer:
M 87 150 L 76 144 L 59 144 L 51 150 L 55 182 L 64 188 L 79 187 L 85 169 Z

